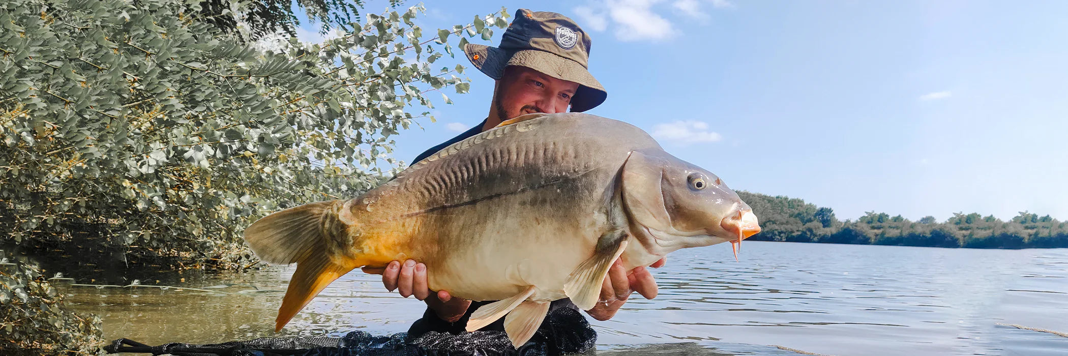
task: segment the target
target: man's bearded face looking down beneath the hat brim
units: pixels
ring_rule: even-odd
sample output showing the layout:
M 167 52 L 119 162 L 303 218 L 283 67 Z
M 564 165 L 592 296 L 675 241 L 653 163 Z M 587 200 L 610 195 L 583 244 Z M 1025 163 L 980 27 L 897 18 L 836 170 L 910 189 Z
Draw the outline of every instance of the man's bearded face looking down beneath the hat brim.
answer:
M 497 115 L 501 121 L 525 113 L 567 111 L 579 83 L 556 79 L 525 66 L 504 68 L 497 95 Z

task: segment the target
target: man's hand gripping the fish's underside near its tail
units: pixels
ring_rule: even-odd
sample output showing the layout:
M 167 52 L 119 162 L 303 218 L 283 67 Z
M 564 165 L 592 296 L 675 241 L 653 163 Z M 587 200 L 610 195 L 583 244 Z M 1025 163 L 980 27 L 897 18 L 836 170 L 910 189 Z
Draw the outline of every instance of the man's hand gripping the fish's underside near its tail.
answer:
M 414 260 L 405 261 L 402 265 L 399 261 L 390 262 L 382 267 L 363 267 L 365 274 L 382 275 L 382 284 L 390 292 L 399 290 L 400 296 L 407 298 L 414 295 L 417 299 L 426 301 L 426 306 L 434 310 L 438 318 L 446 322 L 455 322 L 464 316 L 471 300 L 454 298 L 449 292 L 438 291 L 434 293 L 427 287 L 426 265 L 417 263 Z

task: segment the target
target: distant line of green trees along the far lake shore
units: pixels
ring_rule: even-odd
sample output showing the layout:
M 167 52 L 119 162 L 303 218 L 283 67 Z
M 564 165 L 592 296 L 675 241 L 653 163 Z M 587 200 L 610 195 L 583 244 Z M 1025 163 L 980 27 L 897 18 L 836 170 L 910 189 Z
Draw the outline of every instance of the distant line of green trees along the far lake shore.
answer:
M 933 216 L 912 221 L 867 212 L 841 221 L 830 207 L 783 196 L 748 191 L 738 195 L 753 207 L 764 229 L 751 241 L 967 248 L 1068 247 L 1068 222 L 1028 212 L 1008 221 L 993 215 L 955 213 L 939 222 Z

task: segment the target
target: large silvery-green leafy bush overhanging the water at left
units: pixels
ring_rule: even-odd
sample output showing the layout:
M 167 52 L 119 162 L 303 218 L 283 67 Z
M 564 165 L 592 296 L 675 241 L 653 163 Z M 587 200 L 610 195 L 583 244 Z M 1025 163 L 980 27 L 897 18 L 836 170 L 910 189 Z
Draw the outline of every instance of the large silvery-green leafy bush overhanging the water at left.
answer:
M 376 186 L 390 173 L 379 165 L 399 165 L 390 136 L 428 118 L 410 108 L 468 91 L 462 66 L 433 68 L 453 55 L 450 35 L 507 26 L 502 9 L 424 38 L 413 6 L 260 52 L 198 10 L 0 4 L 0 234 L 117 249 L 129 263 L 251 264 L 248 223 Z

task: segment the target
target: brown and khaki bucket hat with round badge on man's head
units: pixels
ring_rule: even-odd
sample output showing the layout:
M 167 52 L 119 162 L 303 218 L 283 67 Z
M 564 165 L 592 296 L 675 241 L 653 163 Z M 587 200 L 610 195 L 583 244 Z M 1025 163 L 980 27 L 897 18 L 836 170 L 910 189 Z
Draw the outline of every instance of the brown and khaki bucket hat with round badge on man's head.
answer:
M 493 79 L 501 79 L 504 67 L 519 65 L 579 83 L 571 111 L 582 112 L 608 97 L 604 87 L 590 74 L 590 35 L 567 16 L 520 9 L 504 31 L 500 47 L 467 44 L 464 52 L 471 64 Z

